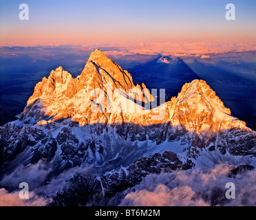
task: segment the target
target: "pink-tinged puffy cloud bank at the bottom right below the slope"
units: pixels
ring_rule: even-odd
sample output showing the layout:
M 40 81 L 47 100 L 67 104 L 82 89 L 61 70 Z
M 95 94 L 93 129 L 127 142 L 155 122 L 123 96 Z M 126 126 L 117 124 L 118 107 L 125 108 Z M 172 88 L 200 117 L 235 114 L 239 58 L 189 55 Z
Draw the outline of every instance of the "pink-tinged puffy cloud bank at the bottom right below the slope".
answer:
M 231 167 L 217 165 L 191 173 L 149 175 L 120 206 L 255 206 L 256 170 L 231 177 Z M 226 183 L 235 184 L 235 199 L 226 199 Z

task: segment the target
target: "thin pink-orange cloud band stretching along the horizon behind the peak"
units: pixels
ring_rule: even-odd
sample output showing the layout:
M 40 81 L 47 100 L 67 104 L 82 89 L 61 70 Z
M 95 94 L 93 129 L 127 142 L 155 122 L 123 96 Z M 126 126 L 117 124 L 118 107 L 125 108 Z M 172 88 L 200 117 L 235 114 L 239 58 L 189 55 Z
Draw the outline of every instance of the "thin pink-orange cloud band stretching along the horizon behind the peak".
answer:
M 116 43 L 105 45 L 1 45 L 0 55 L 3 58 L 28 56 L 37 59 L 60 58 L 61 54 L 89 54 L 92 50 L 99 48 L 107 56 L 127 56 L 127 55 L 157 55 L 164 56 L 192 56 L 206 58 L 207 54 L 217 54 L 224 52 L 245 52 L 253 51 L 254 44 L 213 44 L 213 43 Z M 36 52 L 36 53 L 35 53 Z

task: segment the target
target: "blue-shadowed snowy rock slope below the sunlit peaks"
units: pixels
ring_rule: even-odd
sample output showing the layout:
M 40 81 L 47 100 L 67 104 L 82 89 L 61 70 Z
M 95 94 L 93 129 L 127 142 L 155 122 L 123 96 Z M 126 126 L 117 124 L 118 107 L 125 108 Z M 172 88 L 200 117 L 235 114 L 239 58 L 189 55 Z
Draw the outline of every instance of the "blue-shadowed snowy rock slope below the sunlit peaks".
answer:
M 207 154 L 206 164 L 250 164 L 256 156 L 255 132 L 238 128 L 193 133 L 171 123 L 79 126 L 65 119 L 0 127 L 0 134 L 0 187 L 15 190 L 20 181 L 33 186 L 28 175 L 34 174 L 23 172 L 39 167 L 36 191 L 53 197 L 52 206 L 107 205 L 143 177 L 194 168 Z

